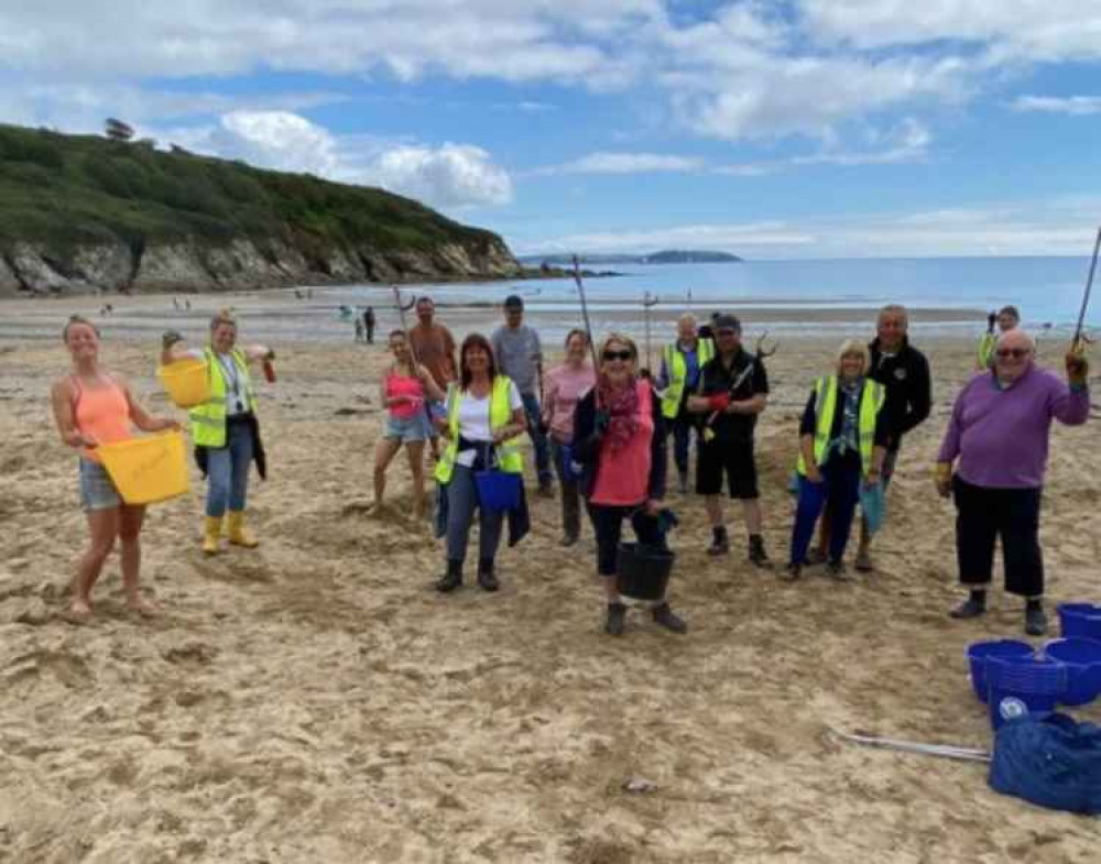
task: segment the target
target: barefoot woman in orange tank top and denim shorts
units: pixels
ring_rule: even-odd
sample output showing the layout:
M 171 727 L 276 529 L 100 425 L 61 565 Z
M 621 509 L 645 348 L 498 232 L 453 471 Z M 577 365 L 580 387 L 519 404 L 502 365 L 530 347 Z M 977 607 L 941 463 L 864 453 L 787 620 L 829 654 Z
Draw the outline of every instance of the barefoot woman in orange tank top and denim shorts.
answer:
M 116 537 L 122 547 L 127 609 L 150 615 L 156 611 L 156 605 L 143 598 L 138 587 L 139 535 L 145 507 L 122 502 L 96 447 L 132 437 L 131 424 L 142 431 L 178 429 L 179 424 L 146 414 L 131 395 L 126 381 L 100 365 L 99 332 L 91 321 L 74 315 L 62 330 L 62 338 L 73 358 L 73 371 L 54 384 L 51 400 L 62 440 L 80 451 L 80 501 L 91 534 L 91 546 L 77 566 L 68 616 L 75 623 L 85 623 L 91 617 L 91 589 L 111 554 Z

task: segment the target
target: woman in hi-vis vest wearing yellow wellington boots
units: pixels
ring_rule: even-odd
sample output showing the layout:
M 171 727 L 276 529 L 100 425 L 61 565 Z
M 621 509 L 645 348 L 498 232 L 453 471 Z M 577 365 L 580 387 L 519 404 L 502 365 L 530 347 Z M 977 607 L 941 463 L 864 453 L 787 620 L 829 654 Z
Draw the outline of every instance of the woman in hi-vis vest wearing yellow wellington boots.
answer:
M 210 319 L 210 342 L 201 350 L 186 349 L 172 330 L 162 338 L 162 364 L 192 358 L 206 360 L 210 378 L 210 397 L 188 412 L 196 456 L 207 474 L 203 551 L 218 553 L 224 521 L 229 542 L 252 549 L 260 542 L 244 527 L 249 466 L 255 459 L 263 477 L 265 464 L 249 364 L 274 360 L 275 352 L 259 344 L 238 348 L 237 319 L 221 310 Z

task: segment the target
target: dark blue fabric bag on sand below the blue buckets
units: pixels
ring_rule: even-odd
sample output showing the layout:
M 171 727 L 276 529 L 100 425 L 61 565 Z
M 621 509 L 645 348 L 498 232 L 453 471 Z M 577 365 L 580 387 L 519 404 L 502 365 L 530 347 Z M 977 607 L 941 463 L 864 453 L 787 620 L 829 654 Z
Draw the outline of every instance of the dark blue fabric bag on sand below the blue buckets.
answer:
M 1101 814 L 1101 726 L 1066 714 L 1010 720 L 994 739 L 989 783 L 1040 807 Z

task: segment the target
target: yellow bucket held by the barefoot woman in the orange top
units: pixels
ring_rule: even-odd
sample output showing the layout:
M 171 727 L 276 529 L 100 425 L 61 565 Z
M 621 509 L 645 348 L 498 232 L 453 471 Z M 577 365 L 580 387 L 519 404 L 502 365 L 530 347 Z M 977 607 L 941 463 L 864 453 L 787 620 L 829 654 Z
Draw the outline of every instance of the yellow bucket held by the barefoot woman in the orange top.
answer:
M 190 491 L 181 431 L 105 444 L 96 452 L 127 504 L 152 504 Z

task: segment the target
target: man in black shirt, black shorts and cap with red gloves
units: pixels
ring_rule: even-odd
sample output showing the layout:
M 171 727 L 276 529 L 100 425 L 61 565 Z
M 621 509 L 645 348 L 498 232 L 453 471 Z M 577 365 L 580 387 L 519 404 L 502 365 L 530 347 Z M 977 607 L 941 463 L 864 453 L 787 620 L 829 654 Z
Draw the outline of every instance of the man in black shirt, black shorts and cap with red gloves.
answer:
M 726 555 L 730 539 L 722 522 L 722 475 L 730 496 L 742 502 L 749 533 L 749 559 L 759 567 L 768 565 L 761 536 L 761 502 L 753 429 L 768 397 L 768 376 L 760 358 L 742 348 L 742 326 L 733 315 L 720 315 L 712 322 L 716 356 L 704 365 L 696 395 L 688 409 L 704 419 L 702 444 L 696 463 L 696 492 L 704 495 L 711 523 L 708 555 Z

